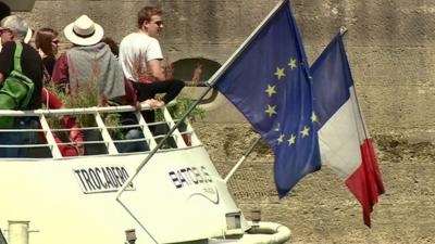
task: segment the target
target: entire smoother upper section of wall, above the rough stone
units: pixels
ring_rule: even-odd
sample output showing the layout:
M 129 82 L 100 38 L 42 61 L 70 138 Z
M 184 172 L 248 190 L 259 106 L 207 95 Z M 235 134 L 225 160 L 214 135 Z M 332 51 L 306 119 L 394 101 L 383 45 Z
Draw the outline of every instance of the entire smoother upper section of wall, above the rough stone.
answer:
M 34 28 L 61 30 L 80 14 L 120 41 L 136 30 L 137 10 L 160 5 L 161 42 L 171 61 L 204 57 L 224 63 L 277 0 L 37 0 L 27 16 Z M 433 140 L 435 108 L 434 1 L 294 0 L 309 61 L 338 27 L 347 26 L 348 56 L 369 128 Z M 227 115 L 231 110 L 231 116 Z M 209 120 L 244 121 L 231 106 L 213 108 Z

